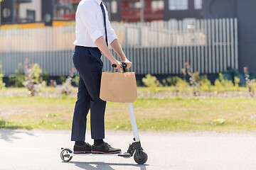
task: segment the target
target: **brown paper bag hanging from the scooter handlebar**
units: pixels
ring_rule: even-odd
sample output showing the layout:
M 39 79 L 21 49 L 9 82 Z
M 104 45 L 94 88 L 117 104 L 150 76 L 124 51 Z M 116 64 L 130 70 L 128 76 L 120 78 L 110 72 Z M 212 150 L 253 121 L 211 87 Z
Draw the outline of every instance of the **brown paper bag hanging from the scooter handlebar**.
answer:
M 137 98 L 134 72 L 102 72 L 100 84 L 102 101 L 133 103 Z

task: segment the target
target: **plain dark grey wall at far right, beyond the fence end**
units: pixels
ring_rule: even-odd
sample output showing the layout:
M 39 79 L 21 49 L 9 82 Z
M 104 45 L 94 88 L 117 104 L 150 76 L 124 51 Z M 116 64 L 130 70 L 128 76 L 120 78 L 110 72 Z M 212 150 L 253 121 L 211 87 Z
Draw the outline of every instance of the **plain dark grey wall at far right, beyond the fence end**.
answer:
M 204 18 L 238 18 L 239 70 L 249 67 L 256 74 L 256 1 L 204 0 Z

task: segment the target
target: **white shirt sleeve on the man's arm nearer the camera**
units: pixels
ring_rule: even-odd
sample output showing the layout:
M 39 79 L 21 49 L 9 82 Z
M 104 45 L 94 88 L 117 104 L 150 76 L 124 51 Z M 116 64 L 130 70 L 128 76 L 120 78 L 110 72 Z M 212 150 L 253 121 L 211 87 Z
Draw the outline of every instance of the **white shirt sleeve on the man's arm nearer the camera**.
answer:
M 77 15 L 80 18 L 80 21 L 82 21 L 82 24 L 85 26 L 86 30 L 88 31 L 90 38 L 93 42 L 95 42 L 97 38 L 103 36 L 96 22 L 95 6 L 93 6 L 93 4 L 90 4 L 90 2 L 87 2 L 79 7 L 80 8 L 78 8 Z

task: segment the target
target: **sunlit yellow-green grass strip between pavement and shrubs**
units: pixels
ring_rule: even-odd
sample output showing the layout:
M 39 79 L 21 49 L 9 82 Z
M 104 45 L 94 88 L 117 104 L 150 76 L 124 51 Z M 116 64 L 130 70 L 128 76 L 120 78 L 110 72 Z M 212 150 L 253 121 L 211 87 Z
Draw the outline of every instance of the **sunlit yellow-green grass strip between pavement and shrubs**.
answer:
M 12 113 L 0 111 L 0 128 L 70 129 L 75 101 L 70 97 L 0 97 L 1 111 Z M 134 102 L 139 130 L 253 131 L 255 108 L 255 98 L 138 98 Z M 225 123 L 216 125 L 214 121 L 220 118 Z M 105 128 L 132 130 L 126 103 L 107 103 Z

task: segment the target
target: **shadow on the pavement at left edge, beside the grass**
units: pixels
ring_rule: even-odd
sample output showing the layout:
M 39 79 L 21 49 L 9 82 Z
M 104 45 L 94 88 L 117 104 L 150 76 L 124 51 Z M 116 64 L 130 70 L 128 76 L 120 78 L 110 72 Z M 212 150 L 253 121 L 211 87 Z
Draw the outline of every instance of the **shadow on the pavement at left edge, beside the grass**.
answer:
M 21 137 L 18 136 L 18 134 L 21 134 L 21 133 L 34 136 L 33 133 L 31 132 L 0 128 L 0 140 L 5 140 L 7 142 L 12 142 L 13 140 L 21 140 Z

